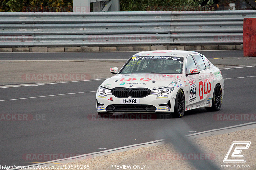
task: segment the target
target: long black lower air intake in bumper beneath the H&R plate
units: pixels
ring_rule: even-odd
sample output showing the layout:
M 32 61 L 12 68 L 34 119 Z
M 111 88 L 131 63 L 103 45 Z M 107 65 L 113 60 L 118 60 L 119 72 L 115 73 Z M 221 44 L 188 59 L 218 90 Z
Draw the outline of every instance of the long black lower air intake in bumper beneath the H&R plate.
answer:
M 155 112 L 156 107 L 152 105 L 108 105 L 106 111 L 108 112 Z

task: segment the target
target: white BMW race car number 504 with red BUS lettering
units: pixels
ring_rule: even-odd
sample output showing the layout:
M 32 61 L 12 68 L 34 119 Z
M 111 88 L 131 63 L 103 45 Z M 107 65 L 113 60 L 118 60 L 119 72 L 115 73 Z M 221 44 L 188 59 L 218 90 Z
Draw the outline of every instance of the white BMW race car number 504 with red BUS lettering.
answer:
M 106 79 L 96 94 L 100 116 L 115 112 L 170 113 L 182 117 L 195 108 L 219 111 L 224 92 L 221 71 L 193 51 L 143 51 Z

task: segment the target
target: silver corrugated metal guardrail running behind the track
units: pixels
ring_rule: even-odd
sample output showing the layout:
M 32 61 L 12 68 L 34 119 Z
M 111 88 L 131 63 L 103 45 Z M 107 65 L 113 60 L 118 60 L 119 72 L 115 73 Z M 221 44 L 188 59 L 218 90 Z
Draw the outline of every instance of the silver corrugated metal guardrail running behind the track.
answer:
M 0 47 L 243 44 L 256 10 L 2 12 Z

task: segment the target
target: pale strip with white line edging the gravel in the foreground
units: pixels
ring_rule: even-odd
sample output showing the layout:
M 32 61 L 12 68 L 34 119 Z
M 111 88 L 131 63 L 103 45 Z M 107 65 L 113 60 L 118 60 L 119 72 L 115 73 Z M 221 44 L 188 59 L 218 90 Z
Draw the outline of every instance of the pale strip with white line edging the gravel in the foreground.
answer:
M 239 127 L 241 127 L 242 130 L 246 129 L 246 127 L 248 127 L 247 129 L 252 129 L 252 128 L 255 128 L 255 124 L 256 124 L 256 122 L 249 122 L 249 123 L 244 123 L 244 124 L 239 124 L 239 125 L 228 126 L 228 127 L 224 127 L 224 128 L 212 129 L 212 130 L 207 130 L 207 131 L 198 132 L 198 133 L 194 133 L 194 134 L 189 134 L 189 135 L 185 135 L 185 137 L 193 137 L 194 136 L 194 137 L 199 138 L 199 137 L 201 137 L 202 134 L 207 134 L 207 133 L 208 133 L 207 136 L 212 136 L 212 132 L 216 132 L 216 131 L 219 131 L 219 133 L 215 134 L 215 135 L 220 135 L 220 134 L 228 133 L 227 131 L 225 131 L 228 129 L 230 132 L 232 132 L 235 128 L 239 128 Z M 221 130 L 222 130 L 222 132 L 221 132 Z M 237 129 L 235 129 L 235 130 L 237 130 Z M 99 152 L 92 152 L 92 153 L 87 153 L 87 154 L 69 157 L 69 158 L 51 160 L 51 161 L 42 162 L 42 163 L 36 162 L 36 164 L 27 165 L 27 168 L 32 167 L 32 166 L 38 166 L 38 165 L 51 166 L 51 164 L 67 164 L 69 162 L 77 161 L 76 160 L 77 158 L 79 158 L 79 160 L 82 160 L 82 159 L 88 159 L 88 158 L 97 157 L 97 156 L 108 155 L 111 153 L 117 153 L 117 152 L 132 150 L 132 149 L 138 149 L 138 147 L 150 147 L 150 146 L 156 146 L 156 145 L 161 145 L 161 144 L 164 144 L 164 139 L 140 143 L 140 144 L 133 144 L 133 145 L 123 146 L 123 147 L 119 147 L 119 148 L 113 148 L 113 149 L 108 149 L 108 150 L 104 150 L 104 151 L 99 151 Z M 15 170 L 15 169 L 10 169 L 10 170 Z

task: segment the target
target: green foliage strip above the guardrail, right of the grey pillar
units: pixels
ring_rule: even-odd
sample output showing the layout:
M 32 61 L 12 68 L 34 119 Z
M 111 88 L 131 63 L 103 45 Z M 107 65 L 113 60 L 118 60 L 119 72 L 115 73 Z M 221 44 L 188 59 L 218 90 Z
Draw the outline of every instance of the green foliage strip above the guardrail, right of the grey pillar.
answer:
M 213 0 L 120 0 L 120 11 L 214 10 L 212 5 Z

